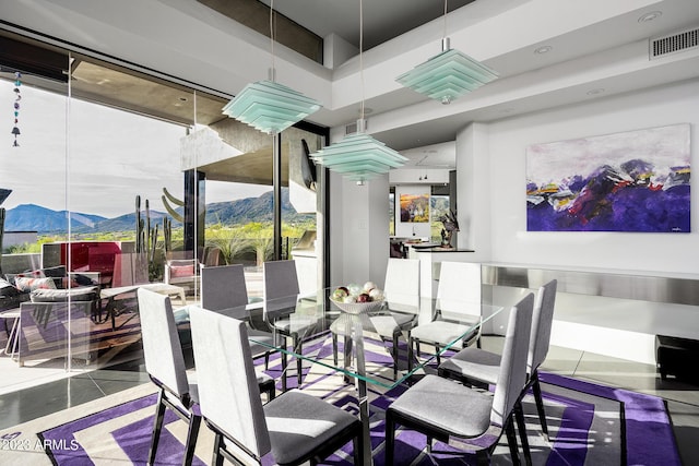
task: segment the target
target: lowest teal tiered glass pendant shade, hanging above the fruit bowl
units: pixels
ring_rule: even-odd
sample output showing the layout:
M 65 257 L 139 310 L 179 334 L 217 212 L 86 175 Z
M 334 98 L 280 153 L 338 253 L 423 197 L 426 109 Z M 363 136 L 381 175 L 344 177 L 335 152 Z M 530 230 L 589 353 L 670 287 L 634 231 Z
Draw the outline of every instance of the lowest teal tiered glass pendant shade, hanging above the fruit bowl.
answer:
M 321 148 L 311 155 L 317 164 L 357 181 L 358 184 L 391 168 L 402 167 L 407 158 L 363 131 L 364 121 L 357 121 L 357 133 Z

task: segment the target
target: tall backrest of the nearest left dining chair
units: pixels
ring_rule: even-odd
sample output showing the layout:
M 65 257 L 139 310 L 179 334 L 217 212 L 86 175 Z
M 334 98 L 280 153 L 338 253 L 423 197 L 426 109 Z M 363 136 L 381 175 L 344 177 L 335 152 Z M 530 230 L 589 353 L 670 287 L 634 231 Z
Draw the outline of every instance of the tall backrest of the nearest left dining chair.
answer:
M 269 453 L 270 434 L 245 323 L 196 306 L 190 321 L 202 416 L 257 457 Z

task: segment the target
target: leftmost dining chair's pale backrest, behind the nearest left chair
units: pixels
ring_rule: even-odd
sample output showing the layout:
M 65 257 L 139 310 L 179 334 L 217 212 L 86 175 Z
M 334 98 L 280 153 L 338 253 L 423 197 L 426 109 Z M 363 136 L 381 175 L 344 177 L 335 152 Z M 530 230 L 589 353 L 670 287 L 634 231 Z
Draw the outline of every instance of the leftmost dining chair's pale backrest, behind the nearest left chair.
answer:
M 137 296 L 145 371 L 181 398 L 189 383 L 170 298 L 144 288 Z

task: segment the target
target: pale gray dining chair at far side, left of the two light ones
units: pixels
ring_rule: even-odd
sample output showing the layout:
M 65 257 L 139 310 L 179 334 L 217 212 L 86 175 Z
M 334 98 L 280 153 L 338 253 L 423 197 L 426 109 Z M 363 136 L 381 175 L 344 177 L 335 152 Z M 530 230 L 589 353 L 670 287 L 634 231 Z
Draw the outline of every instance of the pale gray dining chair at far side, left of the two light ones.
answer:
M 382 340 L 391 342 L 393 379 L 398 378 L 399 339 L 415 325 L 419 313 L 419 260 L 390 258 L 383 283 L 386 310 L 369 318 L 370 326 Z M 333 330 L 331 327 L 331 330 Z M 347 344 L 345 336 L 345 344 Z M 333 362 L 337 366 L 337 332 L 332 334 Z

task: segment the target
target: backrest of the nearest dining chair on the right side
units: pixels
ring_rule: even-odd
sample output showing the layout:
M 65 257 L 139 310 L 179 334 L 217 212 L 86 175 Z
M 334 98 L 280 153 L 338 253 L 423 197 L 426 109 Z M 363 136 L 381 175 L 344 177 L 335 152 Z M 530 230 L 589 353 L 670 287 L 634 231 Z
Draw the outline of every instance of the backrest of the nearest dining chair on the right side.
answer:
M 502 347 L 500 373 L 495 385 L 490 422 L 505 426 L 505 421 L 526 383 L 526 355 L 532 330 L 534 294 L 522 298 L 510 311 Z

